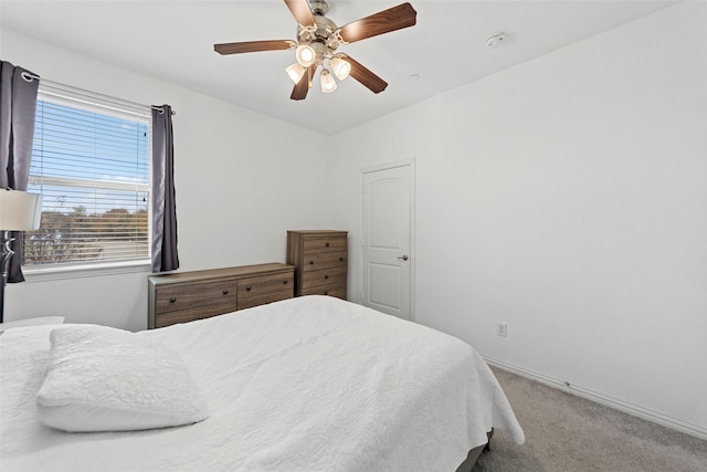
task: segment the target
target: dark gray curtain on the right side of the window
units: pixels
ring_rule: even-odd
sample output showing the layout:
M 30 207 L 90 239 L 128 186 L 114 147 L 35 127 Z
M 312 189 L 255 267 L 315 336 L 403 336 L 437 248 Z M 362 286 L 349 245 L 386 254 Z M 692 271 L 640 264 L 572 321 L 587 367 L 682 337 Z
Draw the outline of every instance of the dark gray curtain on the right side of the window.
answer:
M 152 106 L 152 272 L 178 268 L 172 108 Z

